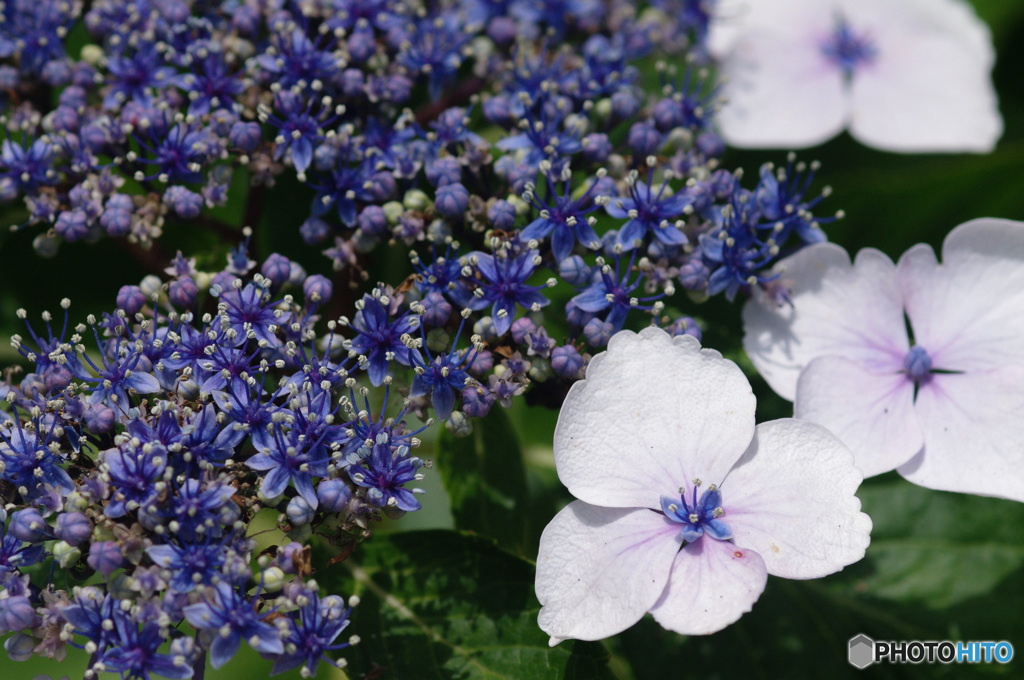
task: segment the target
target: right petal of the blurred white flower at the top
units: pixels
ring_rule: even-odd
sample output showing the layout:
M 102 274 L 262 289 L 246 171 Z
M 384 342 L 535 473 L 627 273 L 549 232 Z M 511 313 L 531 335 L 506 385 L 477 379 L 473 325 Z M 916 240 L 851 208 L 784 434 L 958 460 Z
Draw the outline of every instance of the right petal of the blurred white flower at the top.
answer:
M 876 57 L 853 76 L 854 137 L 904 153 L 992 150 L 1002 119 L 991 38 L 966 4 L 886 3 L 887 20 L 870 27 Z

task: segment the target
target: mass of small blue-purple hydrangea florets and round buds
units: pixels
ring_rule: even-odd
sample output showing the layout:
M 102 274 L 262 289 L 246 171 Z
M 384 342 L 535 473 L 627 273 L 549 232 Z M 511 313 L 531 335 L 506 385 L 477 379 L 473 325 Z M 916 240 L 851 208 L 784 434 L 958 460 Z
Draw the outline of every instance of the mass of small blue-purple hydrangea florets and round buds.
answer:
M 116 239 L 158 264 L 85 323 L 67 301 L 20 314 L 25 367 L 0 382 L 13 658 L 73 645 L 90 677 L 187 678 L 244 642 L 275 671 L 343 663 L 326 654 L 355 641 L 357 598 L 319 592 L 308 544 L 419 509 L 426 428 L 560 397 L 628 324 L 699 336 L 679 287 L 732 299 L 824 240 L 815 164 L 745 186 L 720 166 L 707 3 L 650 4 L 4 5 L 15 226 L 41 255 Z M 211 212 L 258 226 L 286 176 L 308 210 L 275 228 L 333 279 L 251 259 L 253 230 Z M 180 228 L 226 262 L 162 254 Z M 409 278 L 349 286 L 385 247 Z M 292 540 L 272 554 L 250 532 L 264 509 Z

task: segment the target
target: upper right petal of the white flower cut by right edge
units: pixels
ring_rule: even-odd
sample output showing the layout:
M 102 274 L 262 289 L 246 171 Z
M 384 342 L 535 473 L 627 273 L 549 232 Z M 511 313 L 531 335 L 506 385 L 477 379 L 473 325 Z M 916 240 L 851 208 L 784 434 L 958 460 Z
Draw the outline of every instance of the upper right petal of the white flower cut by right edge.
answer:
M 942 259 L 919 245 L 898 265 L 914 338 L 933 366 L 1024 365 L 1024 222 L 961 224 L 946 237 Z

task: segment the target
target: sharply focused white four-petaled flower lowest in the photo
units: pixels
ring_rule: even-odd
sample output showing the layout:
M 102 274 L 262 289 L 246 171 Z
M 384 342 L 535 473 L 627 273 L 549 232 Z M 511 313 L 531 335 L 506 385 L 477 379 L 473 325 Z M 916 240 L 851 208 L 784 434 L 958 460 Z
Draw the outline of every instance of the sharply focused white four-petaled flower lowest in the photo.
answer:
M 624 331 L 572 386 L 555 428 L 575 496 L 541 537 L 537 596 L 551 644 L 618 633 L 650 611 L 707 634 L 767 575 L 812 579 L 860 559 L 871 522 L 853 458 L 824 428 L 755 427 L 742 372 L 690 336 Z

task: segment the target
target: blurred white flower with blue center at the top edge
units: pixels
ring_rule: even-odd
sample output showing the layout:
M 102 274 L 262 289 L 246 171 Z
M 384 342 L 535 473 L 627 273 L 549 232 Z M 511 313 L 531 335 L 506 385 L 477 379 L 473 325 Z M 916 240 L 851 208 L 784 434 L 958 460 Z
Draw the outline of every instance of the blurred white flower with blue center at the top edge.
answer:
M 725 0 L 709 36 L 733 146 L 844 128 L 893 152 L 988 152 L 1002 133 L 992 39 L 962 0 Z

